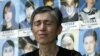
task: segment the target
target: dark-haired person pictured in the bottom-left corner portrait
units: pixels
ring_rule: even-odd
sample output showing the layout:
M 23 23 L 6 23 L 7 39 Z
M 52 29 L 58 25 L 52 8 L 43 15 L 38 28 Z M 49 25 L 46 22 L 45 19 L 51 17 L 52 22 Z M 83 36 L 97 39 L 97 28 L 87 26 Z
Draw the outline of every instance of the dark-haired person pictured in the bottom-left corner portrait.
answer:
M 2 56 L 14 56 L 14 43 L 12 40 L 7 40 L 2 48 Z

